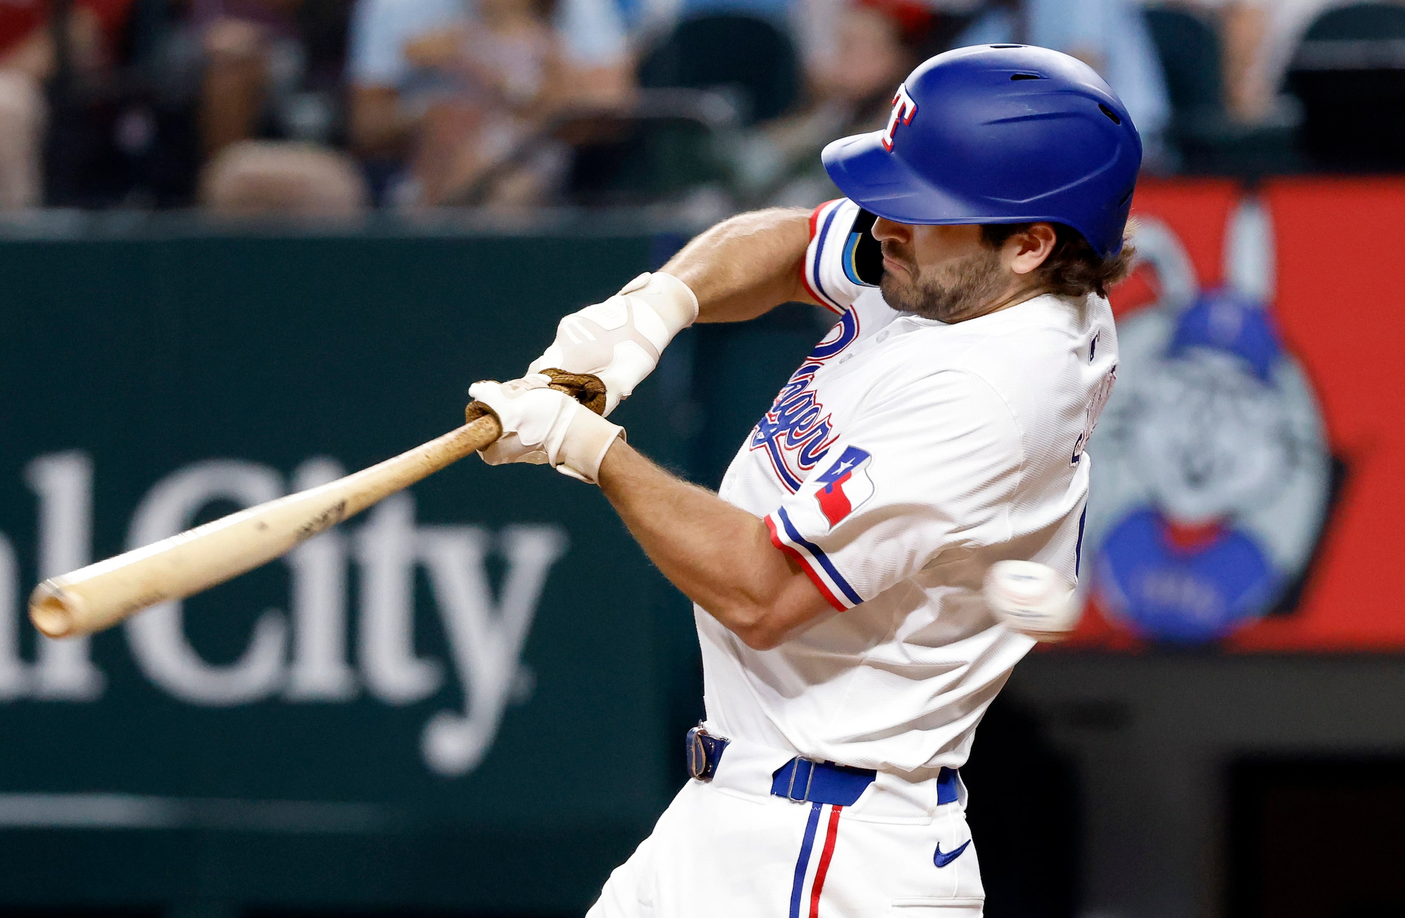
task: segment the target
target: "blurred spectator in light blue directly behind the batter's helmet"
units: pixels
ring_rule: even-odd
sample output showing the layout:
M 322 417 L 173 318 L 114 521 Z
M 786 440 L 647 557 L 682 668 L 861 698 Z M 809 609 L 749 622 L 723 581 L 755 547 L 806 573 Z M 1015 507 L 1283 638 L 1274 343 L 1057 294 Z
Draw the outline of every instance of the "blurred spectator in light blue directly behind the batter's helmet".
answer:
M 1134 0 L 1000 0 L 986 4 L 957 46 L 1020 42 L 1085 60 L 1103 74 L 1131 112 L 1144 161 L 1169 166 L 1162 133 L 1170 102 L 1156 48 Z

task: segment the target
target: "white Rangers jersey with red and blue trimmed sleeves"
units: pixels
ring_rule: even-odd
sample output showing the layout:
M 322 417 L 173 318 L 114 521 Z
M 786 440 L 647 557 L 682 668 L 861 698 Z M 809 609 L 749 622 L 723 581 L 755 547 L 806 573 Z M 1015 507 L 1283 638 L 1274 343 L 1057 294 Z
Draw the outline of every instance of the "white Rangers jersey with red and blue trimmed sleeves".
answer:
M 989 566 L 1035 560 L 1076 577 L 1083 448 L 1116 376 L 1117 334 L 1099 296 L 1045 295 L 954 324 L 895 312 L 860 281 L 860 215 L 850 201 L 815 211 L 805 284 L 842 319 L 719 490 L 764 517 L 836 613 L 752 650 L 695 609 L 707 723 L 922 779 L 965 762 L 1034 644 L 986 609 Z

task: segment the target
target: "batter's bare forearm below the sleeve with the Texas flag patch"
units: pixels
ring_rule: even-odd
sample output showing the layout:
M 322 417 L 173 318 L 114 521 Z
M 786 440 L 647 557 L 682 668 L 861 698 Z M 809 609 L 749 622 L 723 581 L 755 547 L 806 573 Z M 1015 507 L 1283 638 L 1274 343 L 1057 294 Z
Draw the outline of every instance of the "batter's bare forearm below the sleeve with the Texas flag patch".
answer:
M 774 647 L 832 612 L 766 524 L 624 441 L 606 453 L 599 483 L 663 576 L 749 647 Z

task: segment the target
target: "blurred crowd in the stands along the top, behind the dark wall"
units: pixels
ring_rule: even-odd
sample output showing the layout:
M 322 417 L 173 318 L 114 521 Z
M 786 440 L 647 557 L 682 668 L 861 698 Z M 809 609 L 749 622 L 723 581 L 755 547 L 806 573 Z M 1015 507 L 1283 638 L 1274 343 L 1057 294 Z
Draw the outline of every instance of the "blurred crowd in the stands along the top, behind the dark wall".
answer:
M 1349 115 L 1399 121 L 1402 39 L 1338 0 L 0 0 L 0 208 L 811 204 L 910 67 L 1000 42 L 1096 67 L 1154 171 L 1392 167 Z

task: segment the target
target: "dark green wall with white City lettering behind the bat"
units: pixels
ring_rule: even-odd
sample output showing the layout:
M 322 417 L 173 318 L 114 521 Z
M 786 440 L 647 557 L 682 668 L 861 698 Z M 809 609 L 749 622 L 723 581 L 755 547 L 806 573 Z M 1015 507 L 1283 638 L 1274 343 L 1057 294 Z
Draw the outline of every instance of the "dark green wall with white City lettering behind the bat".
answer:
M 695 667 L 686 606 L 594 488 L 469 459 L 87 643 L 39 640 L 24 602 L 450 430 L 473 379 L 520 372 L 649 253 L 0 243 L 0 905 L 589 905 L 680 780 Z M 620 417 L 680 463 L 669 372 Z

